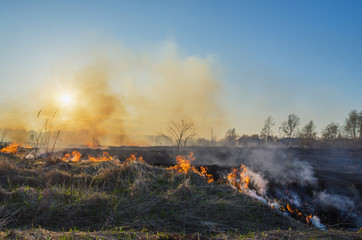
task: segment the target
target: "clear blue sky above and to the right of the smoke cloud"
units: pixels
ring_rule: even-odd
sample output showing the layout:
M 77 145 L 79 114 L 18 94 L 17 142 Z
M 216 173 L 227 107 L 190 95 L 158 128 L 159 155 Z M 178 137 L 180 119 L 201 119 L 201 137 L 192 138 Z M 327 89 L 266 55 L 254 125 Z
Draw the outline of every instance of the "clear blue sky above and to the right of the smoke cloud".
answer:
M 69 58 L 174 42 L 220 67 L 227 128 L 290 113 L 319 128 L 362 110 L 362 2 L 0 1 L 0 101 L 25 99 Z M 147 50 L 148 51 L 148 50 Z

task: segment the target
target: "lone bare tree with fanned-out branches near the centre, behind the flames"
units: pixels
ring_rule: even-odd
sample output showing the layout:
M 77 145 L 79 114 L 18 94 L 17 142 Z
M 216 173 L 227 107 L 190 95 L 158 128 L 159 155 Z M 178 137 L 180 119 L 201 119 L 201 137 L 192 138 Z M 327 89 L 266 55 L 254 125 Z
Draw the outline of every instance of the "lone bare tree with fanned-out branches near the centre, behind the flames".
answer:
M 196 135 L 196 132 L 192 122 L 181 120 L 180 123 L 171 121 L 167 127 L 167 134 L 161 135 L 176 147 L 178 154 L 180 148 L 185 146 L 187 142 Z

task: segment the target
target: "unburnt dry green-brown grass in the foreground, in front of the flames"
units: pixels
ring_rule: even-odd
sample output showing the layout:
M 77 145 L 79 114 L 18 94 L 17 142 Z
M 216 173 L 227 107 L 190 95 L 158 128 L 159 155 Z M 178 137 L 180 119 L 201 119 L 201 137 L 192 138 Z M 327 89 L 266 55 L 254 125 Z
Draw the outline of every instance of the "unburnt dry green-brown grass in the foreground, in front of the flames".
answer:
M 360 239 L 320 231 L 194 171 L 140 158 L 0 158 L 0 236 L 25 239 Z

